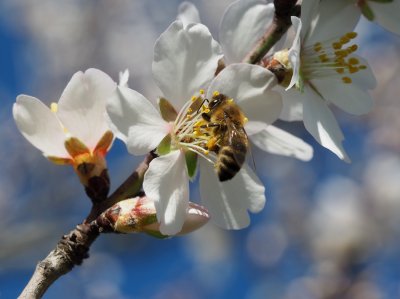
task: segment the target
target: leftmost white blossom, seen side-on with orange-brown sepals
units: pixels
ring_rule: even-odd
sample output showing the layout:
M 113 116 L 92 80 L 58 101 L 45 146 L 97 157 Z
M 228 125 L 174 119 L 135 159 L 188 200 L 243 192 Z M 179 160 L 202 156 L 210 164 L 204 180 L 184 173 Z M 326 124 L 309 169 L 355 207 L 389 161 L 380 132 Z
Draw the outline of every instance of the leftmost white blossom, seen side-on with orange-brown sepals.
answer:
M 75 73 L 58 103 L 19 95 L 13 116 L 22 135 L 50 161 L 71 164 L 82 183 L 106 169 L 105 155 L 113 142 L 105 113 L 114 81 L 97 69 Z M 89 168 L 88 165 L 92 165 Z

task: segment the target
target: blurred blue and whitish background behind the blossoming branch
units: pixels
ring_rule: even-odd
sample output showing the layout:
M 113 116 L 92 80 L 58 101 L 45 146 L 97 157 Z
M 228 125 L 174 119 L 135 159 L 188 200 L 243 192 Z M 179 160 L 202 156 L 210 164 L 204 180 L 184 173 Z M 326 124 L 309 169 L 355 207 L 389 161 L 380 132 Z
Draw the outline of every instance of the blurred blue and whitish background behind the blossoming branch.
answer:
M 149 99 L 152 48 L 181 1 L 0 1 L 0 298 L 15 298 L 36 263 L 90 209 L 72 168 L 42 157 L 12 119 L 18 94 L 57 101 L 78 70 L 99 68 Z M 231 1 L 193 1 L 211 32 Z M 299 123 L 279 123 L 313 145 L 304 163 L 260 153 L 265 209 L 241 231 L 212 223 L 168 240 L 103 235 L 90 258 L 45 298 L 400 298 L 400 38 L 360 22 L 359 54 L 378 80 L 364 117 L 335 111 L 352 164 L 316 144 Z M 116 141 L 112 188 L 141 158 Z M 198 196 L 193 186 L 193 199 Z

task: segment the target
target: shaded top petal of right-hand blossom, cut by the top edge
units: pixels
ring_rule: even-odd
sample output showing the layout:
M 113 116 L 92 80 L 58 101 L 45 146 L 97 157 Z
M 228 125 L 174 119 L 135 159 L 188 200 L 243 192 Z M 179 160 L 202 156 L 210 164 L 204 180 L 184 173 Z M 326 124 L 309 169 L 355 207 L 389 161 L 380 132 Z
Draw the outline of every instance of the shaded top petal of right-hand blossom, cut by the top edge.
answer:
M 353 31 L 360 18 L 360 12 L 353 3 L 349 5 L 350 2 L 349 0 L 321 1 L 305 44 L 326 41 Z

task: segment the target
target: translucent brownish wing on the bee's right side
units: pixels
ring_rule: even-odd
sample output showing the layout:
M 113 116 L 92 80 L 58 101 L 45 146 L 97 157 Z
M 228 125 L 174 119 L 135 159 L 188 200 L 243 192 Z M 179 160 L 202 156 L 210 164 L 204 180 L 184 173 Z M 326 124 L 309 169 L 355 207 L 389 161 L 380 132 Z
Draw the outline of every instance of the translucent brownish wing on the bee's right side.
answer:
M 246 159 L 249 139 L 243 126 L 236 125 L 229 117 L 225 119 L 228 144 L 233 148 L 233 156 L 236 162 L 241 166 Z

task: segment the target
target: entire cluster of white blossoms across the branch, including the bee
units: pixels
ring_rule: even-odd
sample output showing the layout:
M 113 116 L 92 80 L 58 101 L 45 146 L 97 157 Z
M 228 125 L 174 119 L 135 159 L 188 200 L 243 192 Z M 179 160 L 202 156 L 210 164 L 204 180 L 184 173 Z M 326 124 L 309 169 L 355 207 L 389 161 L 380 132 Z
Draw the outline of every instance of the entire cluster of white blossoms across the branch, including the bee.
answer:
M 128 72 L 117 85 L 89 69 L 72 77 L 51 109 L 18 96 L 14 119 L 47 158 L 80 172 L 83 163 L 106 168 L 114 136 L 133 155 L 154 152 L 143 191 L 154 203 L 163 235 L 178 234 L 190 221 L 189 182 L 198 172 L 211 219 L 222 228 L 241 229 L 250 222 L 248 211 L 260 212 L 266 201 L 263 183 L 244 162 L 250 144 L 303 161 L 313 155 L 307 143 L 273 126 L 276 120 L 302 120 L 317 142 L 350 161 L 330 105 L 365 114 L 373 106 L 367 90 L 376 85 L 368 63 L 355 54 L 354 27 L 362 13 L 399 33 L 394 16 L 399 2 L 305 0 L 301 18 L 291 18 L 292 37 L 285 36 L 258 64 L 246 59 L 273 22 L 272 1 L 231 4 L 219 43 L 200 23 L 197 9 L 183 3 L 154 46 L 152 73 L 162 92 L 158 108 L 128 87 Z M 283 80 L 273 64 L 284 71 Z

